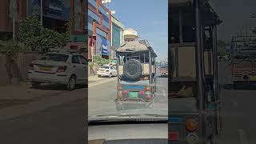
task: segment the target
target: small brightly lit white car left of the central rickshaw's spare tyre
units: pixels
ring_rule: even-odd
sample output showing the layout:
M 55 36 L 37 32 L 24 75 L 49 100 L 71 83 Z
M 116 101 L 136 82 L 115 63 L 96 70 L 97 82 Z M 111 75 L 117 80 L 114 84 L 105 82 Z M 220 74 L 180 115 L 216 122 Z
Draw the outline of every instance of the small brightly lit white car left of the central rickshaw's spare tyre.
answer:
M 111 78 L 117 76 L 118 72 L 114 66 L 102 66 L 97 70 L 97 75 L 98 77 L 107 76 Z

